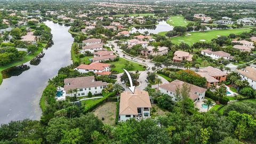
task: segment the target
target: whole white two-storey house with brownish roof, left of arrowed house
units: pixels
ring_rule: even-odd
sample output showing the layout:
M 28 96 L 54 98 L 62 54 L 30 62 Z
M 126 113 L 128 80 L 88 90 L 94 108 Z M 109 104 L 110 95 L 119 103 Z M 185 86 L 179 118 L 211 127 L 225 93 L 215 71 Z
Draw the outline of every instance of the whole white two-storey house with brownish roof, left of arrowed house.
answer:
M 99 94 L 107 86 L 106 82 L 95 81 L 94 76 L 65 78 L 64 91 L 67 97 L 83 97 L 92 94 Z M 69 93 L 69 90 L 76 89 L 76 93 Z

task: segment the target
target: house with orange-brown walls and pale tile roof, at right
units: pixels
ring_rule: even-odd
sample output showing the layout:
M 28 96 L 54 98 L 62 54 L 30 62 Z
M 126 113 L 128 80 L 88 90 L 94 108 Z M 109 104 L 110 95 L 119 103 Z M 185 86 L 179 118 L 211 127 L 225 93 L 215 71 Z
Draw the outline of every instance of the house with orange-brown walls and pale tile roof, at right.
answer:
M 206 67 L 206 68 L 200 68 L 198 74 L 201 75 L 202 77 L 206 78 L 206 81 L 207 81 L 206 86 L 207 87 L 210 87 L 210 85 L 212 85 L 212 84 L 216 85 L 217 83 L 220 83 L 222 81 L 226 81 L 226 78 L 227 78 L 227 74 L 226 73 L 224 73 L 223 71 L 221 71 L 221 70 L 219 70 L 217 68 L 213 68 L 211 66 Z M 209 76 L 207 76 L 207 75 L 217 79 L 218 82 L 216 82 L 212 78 L 209 78 Z

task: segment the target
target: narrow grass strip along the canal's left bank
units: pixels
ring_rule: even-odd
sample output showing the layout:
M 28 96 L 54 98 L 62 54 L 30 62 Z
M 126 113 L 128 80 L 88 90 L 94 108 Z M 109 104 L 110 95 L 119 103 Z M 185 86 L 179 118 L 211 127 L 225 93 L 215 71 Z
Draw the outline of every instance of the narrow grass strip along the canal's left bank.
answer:
M 45 47 L 46 45 L 47 44 L 43 44 L 43 47 Z M 10 67 L 17 66 L 17 65 L 21 65 L 22 63 L 26 63 L 26 62 L 34 59 L 39 53 L 41 53 L 43 51 L 43 47 L 39 47 L 38 50 L 34 54 L 30 53 L 30 54 L 26 55 L 23 58 L 23 60 L 21 60 L 21 61 L 14 61 L 14 62 L 12 62 L 8 65 L 0 66 L 0 85 L 3 82 L 3 76 L 2 76 L 2 73 L 1 73 L 3 70 L 5 70 L 7 68 L 10 68 Z

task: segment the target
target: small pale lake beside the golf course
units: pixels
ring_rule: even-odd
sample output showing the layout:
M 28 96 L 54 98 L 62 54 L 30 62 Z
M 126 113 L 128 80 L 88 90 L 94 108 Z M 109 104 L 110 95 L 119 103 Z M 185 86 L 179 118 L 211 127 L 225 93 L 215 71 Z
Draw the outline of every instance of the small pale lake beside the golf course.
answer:
M 166 21 L 159 21 L 155 26 L 132 27 L 130 33 L 136 33 L 136 31 L 139 31 L 141 34 L 143 34 L 145 31 L 148 31 L 149 34 L 158 34 L 159 32 L 170 30 L 173 30 L 173 26 L 170 26 L 168 23 L 166 23 Z

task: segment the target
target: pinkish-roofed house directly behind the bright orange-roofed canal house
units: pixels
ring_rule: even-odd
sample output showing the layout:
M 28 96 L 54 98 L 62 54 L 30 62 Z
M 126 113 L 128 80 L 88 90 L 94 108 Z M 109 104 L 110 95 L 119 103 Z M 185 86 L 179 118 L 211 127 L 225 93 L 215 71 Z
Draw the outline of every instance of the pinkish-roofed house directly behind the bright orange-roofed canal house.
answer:
M 104 62 L 106 60 L 114 60 L 116 55 L 113 51 L 99 51 L 94 53 L 94 58 L 92 58 L 92 62 Z

